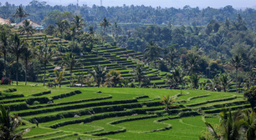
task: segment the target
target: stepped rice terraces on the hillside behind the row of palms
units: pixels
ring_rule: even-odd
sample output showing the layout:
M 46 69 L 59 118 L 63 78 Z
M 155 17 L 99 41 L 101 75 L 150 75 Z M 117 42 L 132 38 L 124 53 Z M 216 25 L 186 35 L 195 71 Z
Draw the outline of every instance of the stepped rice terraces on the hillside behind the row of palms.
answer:
M 28 37 L 28 41 L 32 39 L 35 42 L 41 42 L 45 35 L 43 33 L 35 34 L 33 36 Z M 20 35 L 21 38 L 27 39 L 26 35 Z M 49 37 L 49 42 L 56 45 L 60 43 L 60 38 L 56 37 Z M 62 44 L 64 46 L 68 45 L 68 41 L 62 39 Z M 132 77 L 131 73 L 129 73 L 133 67 L 136 67 L 138 61 L 143 59 L 143 54 L 141 52 L 136 52 L 134 50 L 127 50 L 124 47 L 114 47 L 111 46 L 110 43 L 105 43 L 102 45 L 94 46 L 93 52 L 91 54 L 84 53 L 83 56 L 76 56 L 76 60 L 79 60 L 80 63 L 83 64 L 82 67 L 75 67 L 73 69 L 73 77 L 84 74 L 87 74 L 88 71 L 95 67 L 95 65 L 100 64 L 100 66 L 107 67 L 108 70 L 115 69 L 120 70 L 121 75 L 123 78 L 130 78 Z M 46 80 L 52 80 L 54 78 L 54 67 L 59 66 L 59 62 L 61 61 L 61 56 L 58 59 L 54 60 L 54 62 L 49 62 L 46 70 L 47 70 L 47 78 Z M 41 72 L 38 76 L 44 76 L 44 67 L 41 68 Z M 166 72 L 161 72 L 157 69 L 146 67 L 146 77 L 150 77 L 151 85 L 156 83 L 157 86 L 166 87 L 165 79 L 166 79 Z M 69 68 L 65 70 L 65 77 L 62 85 L 69 85 Z M 74 79 L 74 82 L 75 79 Z M 136 82 L 137 84 L 138 82 Z

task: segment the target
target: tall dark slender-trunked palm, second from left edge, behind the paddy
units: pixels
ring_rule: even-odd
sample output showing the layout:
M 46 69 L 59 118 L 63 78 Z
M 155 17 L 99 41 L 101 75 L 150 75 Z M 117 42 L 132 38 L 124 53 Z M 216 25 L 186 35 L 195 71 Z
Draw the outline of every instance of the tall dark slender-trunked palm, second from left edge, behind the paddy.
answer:
M 18 37 L 18 34 L 15 33 L 14 37 L 11 38 L 11 43 L 9 47 L 9 52 L 13 53 L 16 56 L 16 83 L 18 85 L 18 58 L 28 47 L 28 43 L 21 41 Z

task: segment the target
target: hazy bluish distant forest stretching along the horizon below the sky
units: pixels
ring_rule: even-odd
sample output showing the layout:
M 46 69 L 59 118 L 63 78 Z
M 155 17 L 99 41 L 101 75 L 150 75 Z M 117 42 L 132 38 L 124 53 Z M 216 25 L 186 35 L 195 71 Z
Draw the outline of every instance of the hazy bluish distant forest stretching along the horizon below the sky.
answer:
M 1 3 L 0 16 L 3 18 L 11 18 L 13 16 L 12 13 L 14 13 L 17 7 L 18 6 L 9 2 Z M 226 18 L 235 20 L 235 15 L 238 13 L 245 17 L 249 28 L 255 29 L 256 23 L 255 9 L 234 9 L 230 5 L 223 8 L 206 7 L 202 9 L 188 5 L 183 8 L 147 7 L 144 5 L 126 6 L 125 4 L 122 7 L 100 7 L 96 5 L 88 7 L 86 5 L 76 4 L 69 4 L 68 6 L 50 6 L 47 2 L 33 0 L 23 7 L 28 13 L 31 13 L 33 21 L 44 23 L 46 27 L 51 23 L 52 19 L 58 18 L 54 17 L 53 13 L 51 13 L 52 11 L 82 14 L 83 18 L 90 22 L 90 24 L 97 24 L 106 17 L 109 18 L 110 21 L 116 21 L 118 23 L 154 23 L 166 25 L 172 23 L 173 25 L 190 25 L 192 21 L 195 21 L 197 25 L 205 25 L 209 23 L 212 18 L 218 22 L 224 22 Z M 45 20 L 45 18 L 48 19 Z

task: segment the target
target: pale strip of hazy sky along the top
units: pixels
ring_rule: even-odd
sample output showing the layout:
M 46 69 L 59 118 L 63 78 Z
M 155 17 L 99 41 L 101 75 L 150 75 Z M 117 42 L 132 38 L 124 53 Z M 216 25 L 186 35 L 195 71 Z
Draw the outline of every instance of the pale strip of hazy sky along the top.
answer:
M 11 4 L 15 5 L 27 5 L 32 0 L 0 0 L 2 4 L 5 2 L 9 2 Z M 42 2 L 43 0 L 38 0 Z M 44 0 L 49 5 L 68 5 L 70 3 L 76 4 L 76 0 Z M 190 7 L 225 7 L 227 5 L 232 5 L 234 8 L 245 8 L 245 7 L 253 7 L 256 8 L 256 1 L 255 0 L 102 0 L 103 6 L 122 6 L 125 5 L 145 5 L 145 6 L 151 6 L 151 7 L 184 7 L 185 5 L 189 5 Z M 87 4 L 88 6 L 100 5 L 100 0 L 79 0 L 79 5 Z

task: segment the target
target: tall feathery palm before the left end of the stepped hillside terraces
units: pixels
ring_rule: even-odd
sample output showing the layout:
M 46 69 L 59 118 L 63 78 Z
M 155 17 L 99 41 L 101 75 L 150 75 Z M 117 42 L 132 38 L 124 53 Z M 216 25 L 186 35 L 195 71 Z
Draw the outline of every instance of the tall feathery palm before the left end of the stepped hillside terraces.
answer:
M 38 47 L 36 47 L 35 56 L 38 58 L 38 60 L 41 63 L 44 64 L 44 83 L 45 83 L 46 64 L 54 60 L 56 56 L 56 50 L 54 48 L 47 46 L 47 44 L 44 46 L 42 46 L 41 44 Z

